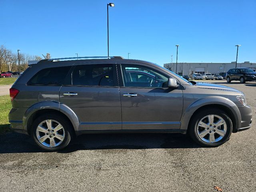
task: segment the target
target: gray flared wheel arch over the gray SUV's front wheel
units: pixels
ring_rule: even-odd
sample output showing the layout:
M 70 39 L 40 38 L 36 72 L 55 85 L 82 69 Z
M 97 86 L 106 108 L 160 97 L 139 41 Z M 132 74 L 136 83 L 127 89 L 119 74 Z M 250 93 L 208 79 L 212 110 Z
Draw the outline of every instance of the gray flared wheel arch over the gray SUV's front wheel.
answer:
M 194 101 L 189 106 L 183 106 L 184 112 L 183 112 L 181 120 L 180 120 L 180 122 L 181 122 L 180 129 L 184 129 L 184 130 L 188 129 L 188 123 L 190 121 L 190 118 L 194 114 L 194 112 L 198 108 L 200 108 L 202 106 L 210 105 L 210 104 L 218 104 L 218 105 L 227 107 L 234 114 L 234 116 L 238 117 L 238 118 L 236 118 L 236 127 L 240 127 L 241 114 L 240 114 L 236 104 L 234 104 L 234 102 L 232 102 L 231 100 L 229 100 L 227 98 L 221 97 L 221 96 L 208 96 L 208 97 L 200 98 L 200 99 Z

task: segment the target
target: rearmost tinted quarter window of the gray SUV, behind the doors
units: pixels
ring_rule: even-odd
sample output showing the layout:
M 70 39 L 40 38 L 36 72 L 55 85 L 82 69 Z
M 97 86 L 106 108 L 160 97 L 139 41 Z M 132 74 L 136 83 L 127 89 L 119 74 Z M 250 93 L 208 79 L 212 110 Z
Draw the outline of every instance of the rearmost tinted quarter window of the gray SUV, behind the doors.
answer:
M 28 85 L 61 85 L 71 66 L 42 69 L 29 81 Z

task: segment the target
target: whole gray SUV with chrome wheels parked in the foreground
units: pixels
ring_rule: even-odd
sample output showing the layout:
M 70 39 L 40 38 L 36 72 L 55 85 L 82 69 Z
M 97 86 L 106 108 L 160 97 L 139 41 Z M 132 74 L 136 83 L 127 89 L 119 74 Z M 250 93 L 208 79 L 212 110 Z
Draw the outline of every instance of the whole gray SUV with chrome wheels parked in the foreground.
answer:
M 188 81 L 156 64 L 109 58 L 58 58 L 31 64 L 10 89 L 13 130 L 45 150 L 80 134 L 182 133 L 215 147 L 250 128 L 239 90 Z

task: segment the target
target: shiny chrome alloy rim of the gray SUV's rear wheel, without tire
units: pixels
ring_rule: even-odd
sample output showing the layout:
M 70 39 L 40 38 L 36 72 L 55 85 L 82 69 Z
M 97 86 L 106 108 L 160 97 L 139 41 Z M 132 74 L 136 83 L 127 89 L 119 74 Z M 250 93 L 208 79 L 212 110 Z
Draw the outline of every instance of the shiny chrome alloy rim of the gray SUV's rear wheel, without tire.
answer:
M 56 147 L 63 142 L 65 130 L 55 120 L 44 120 L 36 128 L 36 138 L 43 146 Z

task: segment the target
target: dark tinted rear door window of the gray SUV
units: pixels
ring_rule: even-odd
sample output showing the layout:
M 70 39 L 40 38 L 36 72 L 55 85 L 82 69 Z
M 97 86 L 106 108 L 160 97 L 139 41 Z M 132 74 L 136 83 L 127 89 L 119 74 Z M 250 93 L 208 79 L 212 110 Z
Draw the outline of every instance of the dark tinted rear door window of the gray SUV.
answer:
M 80 65 L 72 73 L 73 85 L 114 86 L 113 65 Z

